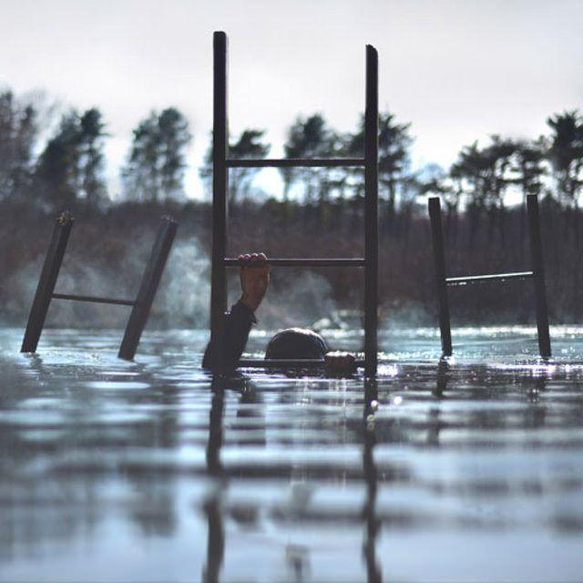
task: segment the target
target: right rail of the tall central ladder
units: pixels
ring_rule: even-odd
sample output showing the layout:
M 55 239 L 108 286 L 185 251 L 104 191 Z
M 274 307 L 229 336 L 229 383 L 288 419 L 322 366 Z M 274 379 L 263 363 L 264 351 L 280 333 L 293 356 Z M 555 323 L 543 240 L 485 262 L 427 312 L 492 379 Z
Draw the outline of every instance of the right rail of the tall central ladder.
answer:
M 366 46 L 366 105 L 364 109 L 364 374 L 376 374 L 378 346 L 378 179 L 379 96 L 378 53 Z

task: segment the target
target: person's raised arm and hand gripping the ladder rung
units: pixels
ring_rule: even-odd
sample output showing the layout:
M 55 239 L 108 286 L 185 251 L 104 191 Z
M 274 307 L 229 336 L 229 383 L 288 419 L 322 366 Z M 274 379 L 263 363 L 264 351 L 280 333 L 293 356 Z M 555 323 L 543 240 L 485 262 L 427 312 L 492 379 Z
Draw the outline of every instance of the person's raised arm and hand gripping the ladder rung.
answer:
M 270 267 L 264 253 L 239 255 L 241 296 L 225 314 L 222 339 L 211 338 L 202 359 L 202 367 L 213 371 L 233 370 L 245 350 L 255 310 L 267 291 Z

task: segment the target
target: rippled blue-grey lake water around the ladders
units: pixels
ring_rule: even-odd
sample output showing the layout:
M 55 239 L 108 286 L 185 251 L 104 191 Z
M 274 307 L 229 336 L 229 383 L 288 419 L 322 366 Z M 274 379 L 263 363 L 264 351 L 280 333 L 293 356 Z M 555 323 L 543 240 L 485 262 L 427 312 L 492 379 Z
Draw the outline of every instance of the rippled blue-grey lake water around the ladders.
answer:
M 376 384 L 204 332 L 0 331 L 2 581 L 580 581 L 583 328 L 386 332 Z M 251 340 L 261 353 L 265 334 Z M 357 333 L 330 338 L 354 348 Z

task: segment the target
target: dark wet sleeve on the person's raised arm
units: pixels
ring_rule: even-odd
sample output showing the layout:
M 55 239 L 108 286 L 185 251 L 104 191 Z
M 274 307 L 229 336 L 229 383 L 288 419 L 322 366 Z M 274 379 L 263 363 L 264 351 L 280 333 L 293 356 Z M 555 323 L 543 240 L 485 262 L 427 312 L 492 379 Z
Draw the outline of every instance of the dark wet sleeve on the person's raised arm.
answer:
M 235 303 L 225 314 L 223 338 L 211 338 L 202 359 L 202 367 L 213 371 L 230 371 L 237 365 L 245 350 L 251 324 L 257 322 L 251 308 Z

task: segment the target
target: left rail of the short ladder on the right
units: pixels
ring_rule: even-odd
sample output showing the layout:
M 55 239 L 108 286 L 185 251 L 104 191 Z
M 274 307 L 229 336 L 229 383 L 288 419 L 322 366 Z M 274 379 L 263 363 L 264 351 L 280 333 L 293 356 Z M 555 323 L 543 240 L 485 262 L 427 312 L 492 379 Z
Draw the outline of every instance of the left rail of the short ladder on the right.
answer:
M 441 333 L 441 350 L 443 356 L 451 356 L 452 331 L 449 321 L 449 302 L 447 301 L 447 282 L 445 281 L 444 233 L 441 220 L 441 202 L 439 198 L 429 199 L 429 218 L 431 220 L 431 238 L 434 247 L 435 285 L 439 308 L 439 332 Z

